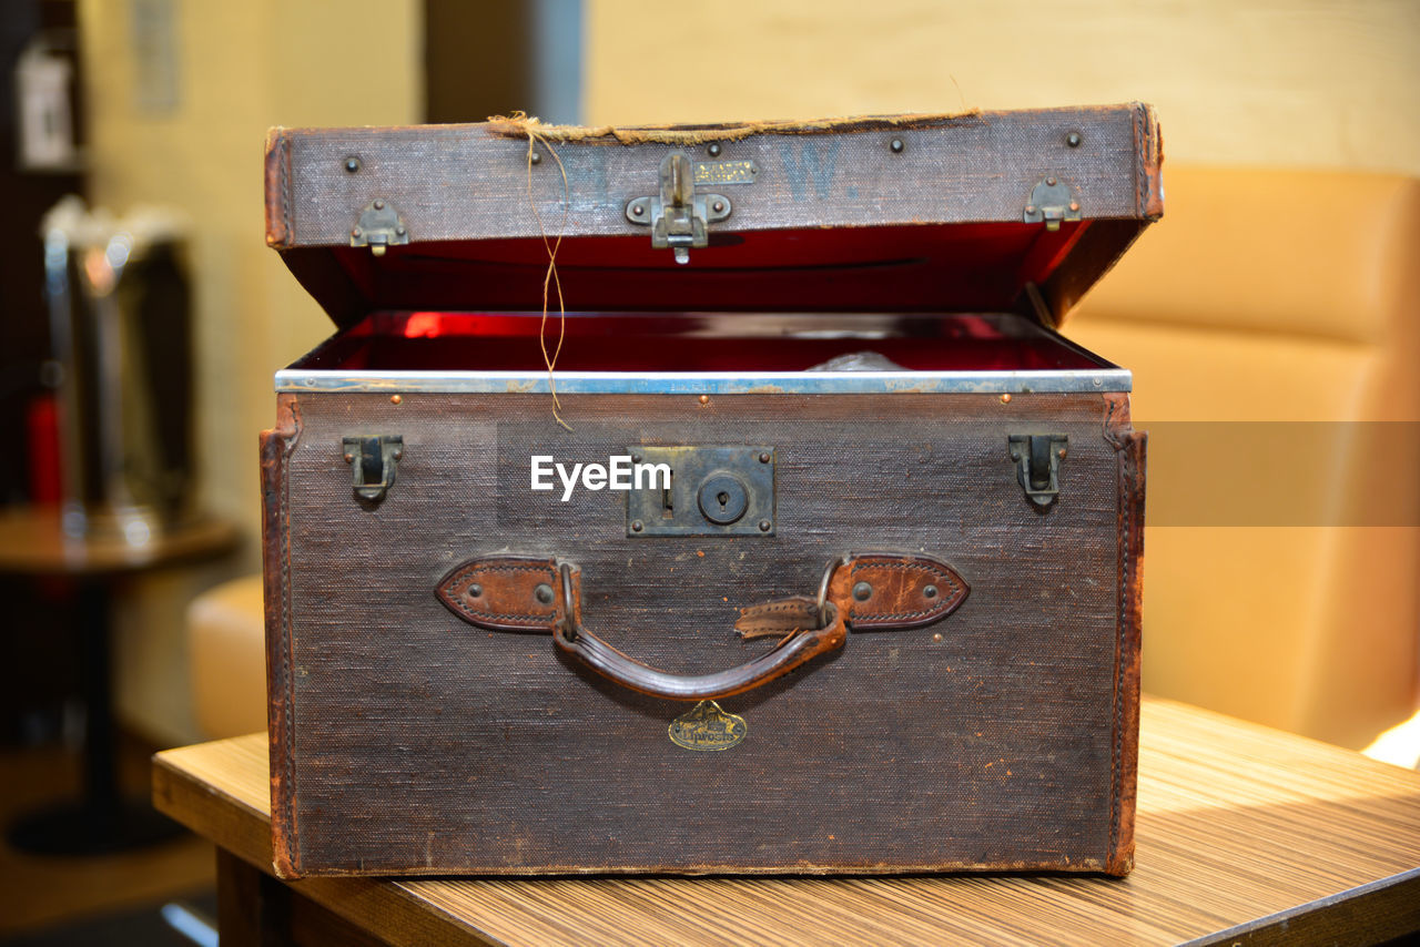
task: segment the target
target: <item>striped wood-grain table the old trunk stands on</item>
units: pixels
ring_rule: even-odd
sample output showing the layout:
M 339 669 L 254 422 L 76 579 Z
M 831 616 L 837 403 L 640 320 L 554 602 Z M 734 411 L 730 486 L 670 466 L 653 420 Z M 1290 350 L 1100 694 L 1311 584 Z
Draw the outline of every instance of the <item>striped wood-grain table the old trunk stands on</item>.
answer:
M 266 734 L 158 754 L 153 799 L 220 846 L 223 947 L 311 927 L 355 944 L 1369 944 L 1420 930 L 1420 774 L 1163 700 L 1145 701 L 1139 754 L 1123 880 L 283 883 L 261 873 Z

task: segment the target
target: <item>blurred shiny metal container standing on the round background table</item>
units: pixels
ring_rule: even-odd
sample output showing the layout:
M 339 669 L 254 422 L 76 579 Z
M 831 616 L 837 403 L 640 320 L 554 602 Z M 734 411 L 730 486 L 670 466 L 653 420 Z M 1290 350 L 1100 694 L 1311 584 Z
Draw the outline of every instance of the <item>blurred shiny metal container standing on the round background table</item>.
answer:
M 192 314 L 183 226 L 65 197 L 43 227 L 64 530 L 148 542 L 190 514 Z

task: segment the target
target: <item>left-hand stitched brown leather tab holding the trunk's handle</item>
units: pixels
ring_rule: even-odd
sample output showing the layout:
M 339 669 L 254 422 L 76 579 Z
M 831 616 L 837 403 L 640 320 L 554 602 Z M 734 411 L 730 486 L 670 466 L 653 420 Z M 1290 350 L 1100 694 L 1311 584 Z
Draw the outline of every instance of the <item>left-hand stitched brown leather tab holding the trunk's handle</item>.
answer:
M 541 602 L 540 585 L 551 593 Z M 551 632 L 561 623 L 561 576 L 552 558 L 484 557 L 456 566 L 435 595 L 479 628 L 498 632 Z

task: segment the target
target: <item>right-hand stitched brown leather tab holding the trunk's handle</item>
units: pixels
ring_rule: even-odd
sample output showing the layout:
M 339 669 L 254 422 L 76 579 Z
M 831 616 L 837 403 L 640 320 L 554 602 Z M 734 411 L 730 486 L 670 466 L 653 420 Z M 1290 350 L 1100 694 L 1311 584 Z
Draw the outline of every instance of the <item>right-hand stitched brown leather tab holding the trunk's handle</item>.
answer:
M 855 554 L 838 571 L 846 579 L 834 576 L 834 601 L 853 629 L 932 625 L 954 612 L 970 592 L 951 566 L 927 555 Z

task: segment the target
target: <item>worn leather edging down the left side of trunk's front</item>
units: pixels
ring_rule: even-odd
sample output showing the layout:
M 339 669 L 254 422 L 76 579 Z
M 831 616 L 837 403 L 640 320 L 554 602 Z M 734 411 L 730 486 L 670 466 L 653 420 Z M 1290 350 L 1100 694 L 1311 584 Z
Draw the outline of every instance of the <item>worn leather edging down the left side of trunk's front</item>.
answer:
M 291 693 L 290 483 L 301 437 L 295 395 L 277 396 L 277 425 L 261 433 L 261 558 L 266 599 L 267 735 L 271 745 L 271 860 L 278 877 L 301 875 L 295 828 L 295 707 Z

